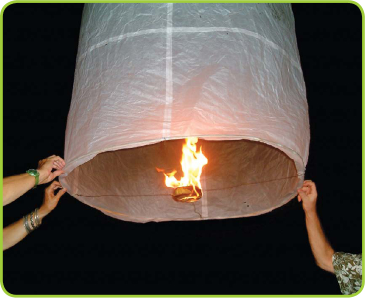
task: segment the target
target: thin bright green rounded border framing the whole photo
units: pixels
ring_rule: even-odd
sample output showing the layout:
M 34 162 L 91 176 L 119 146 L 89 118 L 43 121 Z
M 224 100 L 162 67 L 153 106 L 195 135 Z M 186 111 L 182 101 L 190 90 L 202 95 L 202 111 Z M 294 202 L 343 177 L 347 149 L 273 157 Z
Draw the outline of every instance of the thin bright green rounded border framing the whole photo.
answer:
M 364 107 L 365 107 L 365 85 L 364 85 L 364 79 L 365 79 L 365 70 L 364 70 L 364 61 L 365 61 L 365 52 L 364 52 L 364 28 L 365 28 L 365 19 L 364 19 L 364 10 L 363 7 L 352 0 L 348 0 L 348 1 L 326 1 L 326 0 L 299 0 L 299 1 L 291 1 L 291 0 L 263 0 L 263 1 L 259 1 L 259 0 L 124 0 L 124 1 L 114 1 L 114 0 L 14 0 L 14 1 L 10 1 L 8 3 L 6 3 L 0 12 L 0 117 L 1 117 L 1 123 L 0 123 L 0 179 L 1 179 L 1 185 L 0 185 L 0 193 L 1 193 L 1 201 L 2 201 L 2 160 L 3 160 L 3 151 L 2 151 L 2 146 L 3 146 L 3 135 L 2 135 L 2 113 L 3 113 L 3 105 L 2 105 L 2 99 L 3 99 L 3 14 L 4 14 L 4 10 L 7 6 L 13 4 L 13 3 L 111 3 L 111 2 L 115 2 L 115 3 L 213 3 L 213 2 L 227 2 L 227 3 L 256 3 L 256 2 L 263 2 L 263 3 L 352 3 L 354 5 L 356 5 L 362 14 L 362 198 L 363 198 L 363 204 L 362 204 L 362 249 L 363 252 L 365 251 L 365 241 L 364 241 L 364 205 L 365 205 L 365 186 L 364 186 L 364 178 L 365 178 L 365 119 L 364 119 Z M 2 218 L 2 209 L 0 211 L 0 220 L 1 222 L 3 222 L 3 218 Z M 0 243 L 2 246 L 2 229 L 0 229 Z M 2 291 L 9 297 L 107 297 L 107 298 L 114 298 L 114 297 L 151 297 L 151 298 L 158 298 L 158 297 L 274 297 L 274 298 L 280 298 L 280 297 L 344 297 L 344 295 L 13 295 L 9 292 L 6 291 L 4 285 L 3 285 L 3 254 L 1 254 L 0 256 L 0 285 L 1 285 L 1 289 Z M 364 259 L 363 259 L 363 268 L 364 268 Z M 363 283 L 362 283 L 362 287 L 361 289 L 356 292 L 355 294 L 352 295 L 346 295 L 345 297 L 355 297 L 357 295 L 359 295 L 363 289 L 364 289 L 364 280 L 365 277 L 363 275 Z

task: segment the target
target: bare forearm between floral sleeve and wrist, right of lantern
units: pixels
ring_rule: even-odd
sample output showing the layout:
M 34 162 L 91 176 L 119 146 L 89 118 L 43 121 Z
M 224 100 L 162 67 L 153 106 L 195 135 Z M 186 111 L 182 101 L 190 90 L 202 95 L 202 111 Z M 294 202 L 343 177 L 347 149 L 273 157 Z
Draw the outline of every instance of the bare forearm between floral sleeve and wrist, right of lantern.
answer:
M 333 273 L 332 255 L 334 250 L 326 239 L 316 211 L 305 212 L 305 224 L 317 265 Z

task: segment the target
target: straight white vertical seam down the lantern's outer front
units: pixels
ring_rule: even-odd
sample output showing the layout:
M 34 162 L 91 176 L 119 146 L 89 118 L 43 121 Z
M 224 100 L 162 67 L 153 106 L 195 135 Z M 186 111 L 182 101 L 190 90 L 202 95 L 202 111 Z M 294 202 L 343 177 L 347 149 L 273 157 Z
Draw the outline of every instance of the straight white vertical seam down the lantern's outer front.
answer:
M 173 102 L 173 49 L 172 49 L 173 3 L 167 3 L 166 20 L 166 95 L 162 136 L 170 137 Z

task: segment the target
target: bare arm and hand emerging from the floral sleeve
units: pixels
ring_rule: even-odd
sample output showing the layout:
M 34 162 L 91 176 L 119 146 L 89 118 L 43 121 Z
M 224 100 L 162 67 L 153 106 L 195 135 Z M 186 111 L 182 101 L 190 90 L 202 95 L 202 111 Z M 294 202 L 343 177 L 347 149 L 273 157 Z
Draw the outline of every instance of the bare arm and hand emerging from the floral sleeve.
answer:
M 318 218 L 316 210 L 317 190 L 315 184 L 310 180 L 304 181 L 303 187 L 298 190 L 298 194 L 298 201 L 303 201 L 305 224 L 315 262 L 320 268 L 334 273 L 332 264 L 334 250 L 326 239 Z

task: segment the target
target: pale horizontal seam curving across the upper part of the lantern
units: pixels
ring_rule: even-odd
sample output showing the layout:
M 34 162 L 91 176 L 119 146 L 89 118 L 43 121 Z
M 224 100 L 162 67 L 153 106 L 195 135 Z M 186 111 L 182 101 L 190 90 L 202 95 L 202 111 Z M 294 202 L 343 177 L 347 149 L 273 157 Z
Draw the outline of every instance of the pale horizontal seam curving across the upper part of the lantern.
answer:
M 168 3 L 169 5 L 173 3 Z M 168 5 L 168 9 L 169 9 L 169 5 Z M 168 11 L 168 15 L 167 15 L 167 25 L 169 25 L 169 11 Z M 264 44 L 274 48 L 275 50 L 278 50 L 279 52 L 281 52 L 284 56 L 286 56 L 292 63 L 293 65 L 301 70 L 301 65 L 298 61 L 293 60 L 290 55 L 281 47 L 279 47 L 276 43 L 268 40 L 267 38 L 261 36 L 258 33 L 246 30 L 246 29 L 242 29 L 242 28 L 228 28 L 228 27 L 172 27 L 172 10 L 171 10 L 171 26 L 165 28 L 160 28 L 160 29 L 147 29 L 147 30 L 140 30 L 140 31 L 136 31 L 136 32 L 128 32 L 128 33 L 124 33 L 122 35 L 118 35 L 118 36 L 113 36 L 111 38 L 105 39 L 101 42 L 98 42 L 95 45 L 90 46 L 81 56 L 80 59 L 84 58 L 88 53 L 91 53 L 92 51 L 94 51 L 97 48 L 100 48 L 102 46 L 106 46 L 108 43 L 110 42 L 117 42 L 117 41 L 121 41 L 122 39 L 128 38 L 128 37 L 134 37 L 134 36 L 140 36 L 140 35 L 145 35 L 145 34 L 154 34 L 154 33 L 166 33 L 167 36 L 169 34 L 173 34 L 173 33 L 208 33 L 208 32 L 232 32 L 232 33 L 242 33 L 245 34 L 247 36 L 251 36 L 251 37 L 255 37 L 258 40 L 262 41 Z

